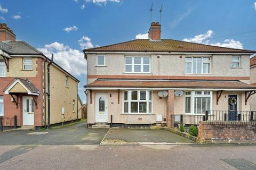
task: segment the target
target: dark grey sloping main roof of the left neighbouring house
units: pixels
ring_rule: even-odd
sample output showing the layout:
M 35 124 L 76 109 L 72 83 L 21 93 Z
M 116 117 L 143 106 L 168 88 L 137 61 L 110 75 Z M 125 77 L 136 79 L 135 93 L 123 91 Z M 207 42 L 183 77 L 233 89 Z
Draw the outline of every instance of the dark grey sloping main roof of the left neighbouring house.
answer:
M 42 54 L 25 41 L 9 41 L 5 44 L 11 46 L 11 54 Z

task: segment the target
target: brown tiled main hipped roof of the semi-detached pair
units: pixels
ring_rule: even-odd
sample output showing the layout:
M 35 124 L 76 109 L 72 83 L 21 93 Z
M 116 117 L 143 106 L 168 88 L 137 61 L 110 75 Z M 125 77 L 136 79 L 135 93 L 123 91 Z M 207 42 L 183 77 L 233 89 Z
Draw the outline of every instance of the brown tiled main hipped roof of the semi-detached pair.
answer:
M 195 53 L 256 53 L 253 50 L 226 48 L 205 44 L 189 43 L 186 41 L 162 39 L 150 41 L 149 39 L 135 39 L 108 46 L 89 48 L 86 52 L 195 52 Z

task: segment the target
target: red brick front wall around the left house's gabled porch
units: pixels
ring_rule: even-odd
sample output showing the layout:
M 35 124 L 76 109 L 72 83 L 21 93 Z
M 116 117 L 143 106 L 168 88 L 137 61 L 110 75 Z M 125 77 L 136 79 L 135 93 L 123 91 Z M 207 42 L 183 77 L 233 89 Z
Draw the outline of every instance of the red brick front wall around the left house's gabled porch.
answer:
M 37 75 L 36 77 L 28 77 L 29 81 L 31 81 L 37 89 L 40 91 L 40 95 L 37 99 L 37 106 L 35 107 L 35 126 L 42 126 L 43 125 L 43 58 L 38 58 L 36 61 L 37 64 Z M 10 70 L 11 71 L 11 70 Z M 20 78 L 27 79 L 26 77 Z M 22 97 L 26 95 L 19 95 L 19 107 L 17 108 L 15 103 L 11 101 L 10 95 L 4 94 L 4 89 L 13 81 L 14 78 L 6 77 L 0 78 L 0 96 L 4 96 L 4 117 L 14 116 L 17 115 L 17 125 L 22 126 Z

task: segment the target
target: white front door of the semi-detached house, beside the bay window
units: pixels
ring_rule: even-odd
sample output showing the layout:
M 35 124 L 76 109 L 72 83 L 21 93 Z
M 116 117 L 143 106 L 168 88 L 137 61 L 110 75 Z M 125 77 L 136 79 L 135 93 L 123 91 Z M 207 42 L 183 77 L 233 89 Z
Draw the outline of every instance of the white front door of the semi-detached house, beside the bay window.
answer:
M 95 95 L 95 122 L 108 122 L 107 94 Z

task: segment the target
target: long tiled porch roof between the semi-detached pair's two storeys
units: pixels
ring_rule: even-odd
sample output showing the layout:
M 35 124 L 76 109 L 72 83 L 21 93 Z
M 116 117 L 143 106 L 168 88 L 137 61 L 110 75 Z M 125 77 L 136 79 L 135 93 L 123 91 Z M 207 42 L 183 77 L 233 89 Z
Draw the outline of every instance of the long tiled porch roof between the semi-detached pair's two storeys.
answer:
M 256 86 L 241 81 L 164 81 L 164 80 L 107 80 L 98 79 L 84 86 L 87 89 L 95 88 L 173 88 L 173 89 L 215 89 L 215 90 L 256 90 Z

